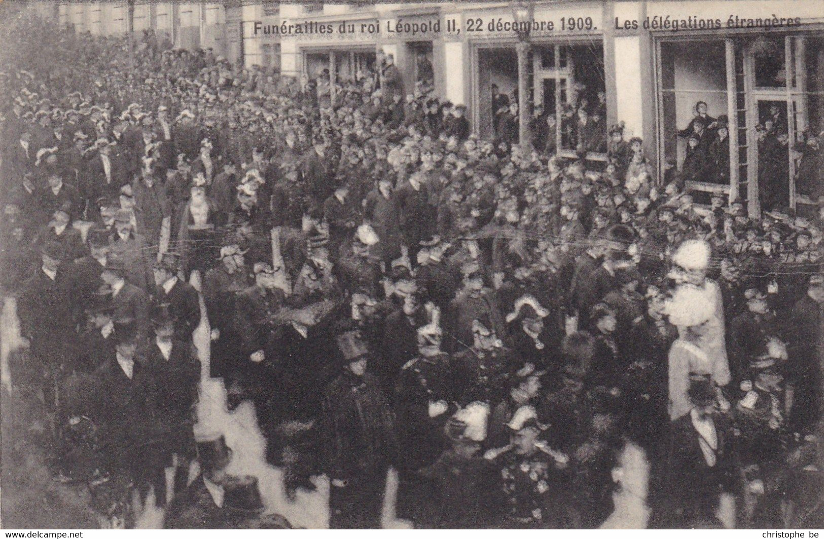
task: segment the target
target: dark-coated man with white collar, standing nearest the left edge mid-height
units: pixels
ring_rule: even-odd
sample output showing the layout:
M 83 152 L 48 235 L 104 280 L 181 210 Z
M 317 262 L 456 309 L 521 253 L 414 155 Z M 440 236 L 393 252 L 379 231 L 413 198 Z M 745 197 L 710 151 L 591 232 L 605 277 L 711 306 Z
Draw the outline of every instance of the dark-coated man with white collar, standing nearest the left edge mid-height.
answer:
M 42 263 L 22 286 L 17 303 L 21 335 L 30 342 L 32 358 L 44 373 L 47 407 L 54 407 L 54 383 L 59 382 L 60 371 L 71 357 L 75 342 L 76 304 L 63 269 L 64 257 L 60 244 L 42 244 Z

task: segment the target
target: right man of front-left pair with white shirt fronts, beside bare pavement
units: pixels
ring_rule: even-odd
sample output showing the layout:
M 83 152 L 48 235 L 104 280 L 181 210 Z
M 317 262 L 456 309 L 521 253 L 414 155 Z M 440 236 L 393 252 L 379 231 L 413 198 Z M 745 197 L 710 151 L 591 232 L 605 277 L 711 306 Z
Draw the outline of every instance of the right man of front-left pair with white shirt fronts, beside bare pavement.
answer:
M 163 466 L 174 477 L 174 489 L 185 489 L 189 464 L 194 458 L 194 406 L 198 399 L 200 362 L 194 347 L 174 339 L 175 324 L 169 305 L 158 305 L 152 313 L 154 338 L 138 351 L 157 386 L 156 410 L 162 417 L 160 427 Z M 171 470 L 169 470 L 171 468 Z M 162 476 L 165 480 L 165 476 Z M 166 504 L 171 492 L 166 481 L 156 484 L 157 500 Z M 157 491 L 160 488 L 161 490 Z

